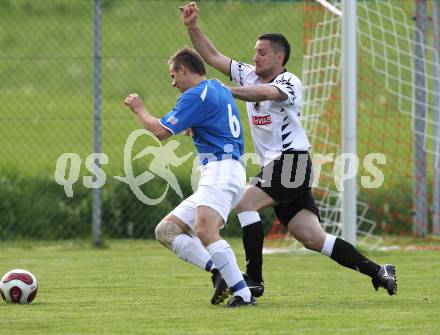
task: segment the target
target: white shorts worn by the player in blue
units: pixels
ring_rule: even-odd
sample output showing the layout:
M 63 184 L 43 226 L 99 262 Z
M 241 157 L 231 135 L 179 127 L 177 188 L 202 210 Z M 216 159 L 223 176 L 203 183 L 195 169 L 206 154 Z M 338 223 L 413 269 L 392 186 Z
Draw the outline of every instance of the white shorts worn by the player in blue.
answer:
M 171 214 L 195 231 L 196 208 L 208 206 L 216 210 L 226 223 L 229 212 L 240 200 L 245 184 L 246 171 L 239 161 L 211 161 L 200 167 L 197 191 L 183 200 Z

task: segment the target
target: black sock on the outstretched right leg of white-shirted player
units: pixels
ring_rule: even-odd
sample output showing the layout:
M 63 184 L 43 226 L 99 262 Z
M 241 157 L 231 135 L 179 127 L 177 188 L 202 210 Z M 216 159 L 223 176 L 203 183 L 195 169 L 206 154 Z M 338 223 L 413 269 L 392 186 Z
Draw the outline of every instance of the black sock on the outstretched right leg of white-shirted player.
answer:
M 380 269 L 380 265 L 362 256 L 354 246 L 339 237 L 336 238 L 331 258 L 337 263 L 371 278 L 375 277 Z

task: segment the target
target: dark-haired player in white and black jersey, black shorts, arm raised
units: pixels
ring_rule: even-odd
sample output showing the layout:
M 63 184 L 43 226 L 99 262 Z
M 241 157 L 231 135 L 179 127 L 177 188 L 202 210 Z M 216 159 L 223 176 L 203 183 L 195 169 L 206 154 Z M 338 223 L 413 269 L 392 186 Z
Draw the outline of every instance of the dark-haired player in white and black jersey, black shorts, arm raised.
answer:
M 245 187 L 235 207 L 243 228 L 248 286 L 255 296 L 264 291 L 262 276 L 263 225 L 258 210 L 273 207 L 280 222 L 310 250 L 372 278 L 374 288 L 397 291 L 395 267 L 379 265 L 364 257 L 350 243 L 326 234 L 320 224 L 310 179 L 310 143 L 300 124 L 301 82 L 285 69 L 290 46 L 281 34 L 264 34 L 255 45 L 255 66 L 221 54 L 197 25 L 199 9 L 192 2 L 181 8 L 182 20 L 194 48 L 204 60 L 230 76 L 240 87 L 233 96 L 246 101 L 255 151 L 261 172 L 257 182 Z M 287 164 L 283 169 L 283 165 Z M 287 185 L 287 186 L 286 186 Z

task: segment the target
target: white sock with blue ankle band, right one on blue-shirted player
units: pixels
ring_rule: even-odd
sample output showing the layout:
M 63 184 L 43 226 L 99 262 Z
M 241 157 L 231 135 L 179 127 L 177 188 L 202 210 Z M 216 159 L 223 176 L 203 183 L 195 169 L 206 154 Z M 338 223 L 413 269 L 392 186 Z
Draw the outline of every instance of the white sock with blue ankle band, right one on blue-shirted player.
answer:
M 234 295 L 239 295 L 244 301 L 250 301 L 251 291 L 243 279 L 240 269 L 237 265 L 234 252 L 225 240 L 219 240 L 206 247 L 215 267 L 228 284 Z

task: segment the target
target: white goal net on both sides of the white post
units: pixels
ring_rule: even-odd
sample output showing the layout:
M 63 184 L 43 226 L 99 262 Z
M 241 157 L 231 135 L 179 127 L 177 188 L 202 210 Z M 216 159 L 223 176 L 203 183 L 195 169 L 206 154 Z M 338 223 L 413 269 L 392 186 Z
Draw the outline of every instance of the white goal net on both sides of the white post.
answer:
M 357 243 L 375 248 L 384 238 L 440 231 L 438 8 L 420 1 L 356 3 Z M 303 125 L 314 165 L 321 165 L 313 192 L 325 230 L 340 236 L 341 2 L 310 0 L 303 13 Z M 382 157 L 373 160 L 382 179 L 373 180 L 371 154 Z M 274 238 L 292 245 L 276 223 L 269 246 Z

